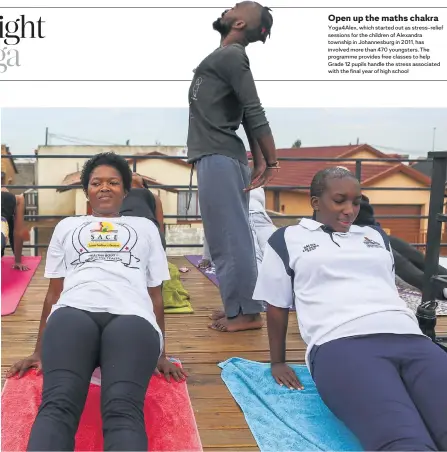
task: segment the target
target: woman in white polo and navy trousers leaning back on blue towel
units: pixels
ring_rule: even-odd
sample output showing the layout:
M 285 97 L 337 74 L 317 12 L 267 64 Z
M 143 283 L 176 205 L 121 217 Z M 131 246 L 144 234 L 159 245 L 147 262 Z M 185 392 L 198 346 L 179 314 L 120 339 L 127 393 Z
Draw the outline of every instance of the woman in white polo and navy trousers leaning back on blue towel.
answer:
M 353 224 L 360 201 L 352 173 L 319 171 L 315 220 L 269 239 L 253 296 L 268 303 L 272 375 L 302 389 L 286 364 L 295 305 L 318 392 L 365 450 L 447 450 L 447 353 L 399 297 L 387 235 Z

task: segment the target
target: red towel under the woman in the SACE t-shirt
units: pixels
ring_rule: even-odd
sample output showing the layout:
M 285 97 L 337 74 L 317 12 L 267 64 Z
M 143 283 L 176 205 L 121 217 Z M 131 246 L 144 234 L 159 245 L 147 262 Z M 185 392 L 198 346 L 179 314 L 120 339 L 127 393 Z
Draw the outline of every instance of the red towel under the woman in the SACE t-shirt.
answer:
M 39 408 L 42 376 L 34 370 L 7 379 L 2 391 L 2 450 L 26 450 Z M 90 384 L 76 434 L 75 451 L 102 451 L 101 388 Z M 153 376 L 144 405 L 150 451 L 202 451 L 186 382 Z

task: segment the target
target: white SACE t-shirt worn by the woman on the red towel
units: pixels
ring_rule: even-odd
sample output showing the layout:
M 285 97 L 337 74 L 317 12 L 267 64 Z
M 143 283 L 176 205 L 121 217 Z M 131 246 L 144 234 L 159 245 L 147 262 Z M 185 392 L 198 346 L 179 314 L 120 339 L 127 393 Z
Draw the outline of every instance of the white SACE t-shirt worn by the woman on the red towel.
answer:
M 60 221 L 51 238 L 46 278 L 65 278 L 51 313 L 61 307 L 136 315 L 163 337 L 148 287 L 170 279 L 157 227 L 146 218 L 93 216 Z M 50 315 L 51 315 L 50 313 Z

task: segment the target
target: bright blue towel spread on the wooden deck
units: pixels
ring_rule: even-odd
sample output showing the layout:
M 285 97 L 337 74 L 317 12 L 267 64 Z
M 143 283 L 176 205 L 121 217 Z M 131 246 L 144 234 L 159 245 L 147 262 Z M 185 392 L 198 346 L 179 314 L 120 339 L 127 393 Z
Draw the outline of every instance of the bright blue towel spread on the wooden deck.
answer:
M 270 364 L 231 358 L 219 367 L 261 451 L 363 450 L 323 403 L 306 366 L 292 365 L 301 391 L 279 386 Z

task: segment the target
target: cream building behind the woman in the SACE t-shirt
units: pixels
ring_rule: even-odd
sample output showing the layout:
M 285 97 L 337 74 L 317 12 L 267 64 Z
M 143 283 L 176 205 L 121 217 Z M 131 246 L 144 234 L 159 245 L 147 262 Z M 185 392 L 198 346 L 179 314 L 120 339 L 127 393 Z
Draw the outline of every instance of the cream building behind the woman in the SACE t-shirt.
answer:
M 63 185 L 61 189 L 38 190 L 39 215 L 85 215 L 89 206 L 82 189 L 73 189 L 80 180 L 80 171 L 86 158 L 76 156 L 93 156 L 100 152 L 115 152 L 120 155 L 134 156 L 129 159 L 129 166 L 146 178 L 150 185 L 156 185 L 151 191 L 157 194 L 163 204 L 168 244 L 201 244 L 203 228 L 201 220 L 186 219 L 186 206 L 189 196 L 190 181 L 197 186 L 195 172 L 191 174 L 191 165 L 182 159 L 162 159 L 164 156 L 186 157 L 182 146 L 39 146 L 36 154 L 62 158 L 37 159 L 38 185 Z M 144 156 L 153 156 L 144 159 Z M 182 189 L 169 186 L 180 185 Z M 166 218 L 180 215 L 180 218 Z M 191 191 L 191 205 L 188 215 L 200 215 L 197 190 Z M 55 220 L 39 221 L 43 230 L 40 242 L 48 243 Z M 200 248 L 168 248 L 170 254 L 188 254 L 200 252 Z

